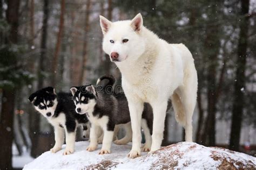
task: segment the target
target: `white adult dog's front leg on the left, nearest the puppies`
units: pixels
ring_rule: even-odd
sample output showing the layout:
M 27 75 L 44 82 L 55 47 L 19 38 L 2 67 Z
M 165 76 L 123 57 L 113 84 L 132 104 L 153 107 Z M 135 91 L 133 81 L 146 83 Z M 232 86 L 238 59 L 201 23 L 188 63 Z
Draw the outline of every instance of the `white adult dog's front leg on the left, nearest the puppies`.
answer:
M 128 100 L 128 103 L 132 124 L 132 150 L 128 157 L 136 158 L 140 156 L 140 143 L 142 141 L 140 126 L 142 123 L 142 111 L 144 105 L 140 100 Z

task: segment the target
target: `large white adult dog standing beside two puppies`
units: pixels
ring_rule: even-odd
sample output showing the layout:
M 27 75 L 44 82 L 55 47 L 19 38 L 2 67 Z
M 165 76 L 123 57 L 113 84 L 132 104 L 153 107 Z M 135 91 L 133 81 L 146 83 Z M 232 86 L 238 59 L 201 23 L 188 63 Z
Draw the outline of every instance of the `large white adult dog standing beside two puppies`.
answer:
M 122 73 L 122 86 L 129 103 L 132 124 L 130 158 L 140 155 L 143 103 L 153 108 L 151 152 L 163 140 L 167 101 L 172 100 L 176 120 L 192 141 L 192 115 L 197 101 L 197 71 L 190 51 L 183 44 L 169 44 L 143 26 L 140 13 L 132 20 L 110 22 L 100 16 L 103 50 Z

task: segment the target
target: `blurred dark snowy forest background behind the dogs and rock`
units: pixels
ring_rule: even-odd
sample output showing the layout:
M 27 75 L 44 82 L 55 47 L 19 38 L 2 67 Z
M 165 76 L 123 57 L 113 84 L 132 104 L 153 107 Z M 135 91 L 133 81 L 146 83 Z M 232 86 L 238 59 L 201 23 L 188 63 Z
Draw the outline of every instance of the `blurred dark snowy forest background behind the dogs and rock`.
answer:
M 256 150 L 255 0 L 0 0 L 0 168 L 11 169 L 12 147 L 36 158 L 54 144 L 51 126 L 28 101 L 33 91 L 69 91 L 104 74 L 120 84 L 102 50 L 99 15 L 116 21 L 139 12 L 144 26 L 193 54 L 194 141 L 242 152 L 246 142 Z M 163 145 L 183 140 L 174 122 L 171 109 Z

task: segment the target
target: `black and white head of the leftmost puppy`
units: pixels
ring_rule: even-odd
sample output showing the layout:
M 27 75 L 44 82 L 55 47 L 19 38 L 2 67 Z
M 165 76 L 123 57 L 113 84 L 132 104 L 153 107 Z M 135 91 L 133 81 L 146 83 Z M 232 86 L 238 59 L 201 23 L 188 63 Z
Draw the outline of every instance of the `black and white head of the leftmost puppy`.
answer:
M 50 118 L 54 115 L 57 107 L 57 95 L 53 87 L 46 87 L 29 96 L 29 101 L 35 109 L 44 117 Z

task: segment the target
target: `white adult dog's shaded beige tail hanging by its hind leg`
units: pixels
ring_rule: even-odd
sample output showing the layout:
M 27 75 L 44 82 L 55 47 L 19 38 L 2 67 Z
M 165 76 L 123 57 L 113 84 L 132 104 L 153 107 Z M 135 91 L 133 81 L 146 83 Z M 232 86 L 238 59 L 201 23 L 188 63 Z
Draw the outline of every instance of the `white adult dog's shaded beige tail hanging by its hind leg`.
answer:
M 175 112 L 176 121 L 179 124 L 183 125 L 183 127 L 185 128 L 185 125 L 186 125 L 185 109 L 183 107 L 183 104 L 181 103 L 179 95 L 176 93 L 173 93 L 172 95 L 172 105 L 173 105 L 173 110 Z

